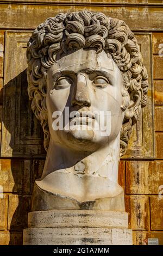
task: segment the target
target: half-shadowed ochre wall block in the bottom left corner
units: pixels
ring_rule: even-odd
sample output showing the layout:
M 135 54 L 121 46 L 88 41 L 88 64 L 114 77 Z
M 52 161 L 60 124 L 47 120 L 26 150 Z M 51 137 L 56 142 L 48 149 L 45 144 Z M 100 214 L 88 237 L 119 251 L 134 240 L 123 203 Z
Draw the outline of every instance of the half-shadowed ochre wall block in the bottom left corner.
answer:
M 0 245 L 22 245 L 22 232 L 0 232 Z

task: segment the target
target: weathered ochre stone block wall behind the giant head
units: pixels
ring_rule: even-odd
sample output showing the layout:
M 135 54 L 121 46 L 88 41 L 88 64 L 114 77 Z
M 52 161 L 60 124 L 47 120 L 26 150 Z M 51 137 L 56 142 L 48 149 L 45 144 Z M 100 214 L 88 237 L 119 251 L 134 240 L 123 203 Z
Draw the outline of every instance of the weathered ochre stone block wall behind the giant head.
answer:
M 121 159 L 119 183 L 125 191 L 134 245 L 144 245 L 148 237 L 159 238 L 163 245 L 163 198 L 158 197 L 159 186 L 163 185 L 163 57 L 159 56 L 163 44 L 163 3 L 16 2 L 4 0 L 0 4 L 0 185 L 4 192 L 0 198 L 0 245 L 22 244 L 33 184 L 45 161 L 42 128 L 27 95 L 27 41 L 33 29 L 47 17 L 83 9 L 124 20 L 140 45 L 149 75 L 148 103 Z

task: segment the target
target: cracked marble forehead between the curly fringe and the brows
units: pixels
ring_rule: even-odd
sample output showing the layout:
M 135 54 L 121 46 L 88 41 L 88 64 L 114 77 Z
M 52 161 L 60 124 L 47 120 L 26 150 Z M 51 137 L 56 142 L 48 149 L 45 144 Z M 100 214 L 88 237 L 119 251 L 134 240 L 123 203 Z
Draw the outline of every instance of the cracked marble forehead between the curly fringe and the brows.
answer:
M 57 63 L 53 65 L 53 70 L 67 70 L 78 72 L 85 69 L 114 70 L 114 62 L 102 51 L 97 53 L 95 50 L 80 49 L 76 52 L 58 57 Z

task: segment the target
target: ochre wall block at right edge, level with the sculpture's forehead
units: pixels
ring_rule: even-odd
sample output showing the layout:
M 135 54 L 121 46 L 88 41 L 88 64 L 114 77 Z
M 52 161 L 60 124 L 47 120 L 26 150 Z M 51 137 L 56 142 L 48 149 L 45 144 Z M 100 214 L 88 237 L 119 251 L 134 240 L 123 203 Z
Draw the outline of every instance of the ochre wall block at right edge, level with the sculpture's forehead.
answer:
M 153 55 L 153 78 L 163 79 L 163 57 L 158 55 Z

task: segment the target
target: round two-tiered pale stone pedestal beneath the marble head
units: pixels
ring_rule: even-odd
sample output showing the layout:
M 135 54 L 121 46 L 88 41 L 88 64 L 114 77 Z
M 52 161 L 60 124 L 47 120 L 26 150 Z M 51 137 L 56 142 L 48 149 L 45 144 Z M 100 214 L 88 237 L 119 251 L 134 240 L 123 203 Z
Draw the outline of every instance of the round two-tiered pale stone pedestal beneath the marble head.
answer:
M 132 245 L 127 212 L 50 210 L 28 214 L 23 245 Z

